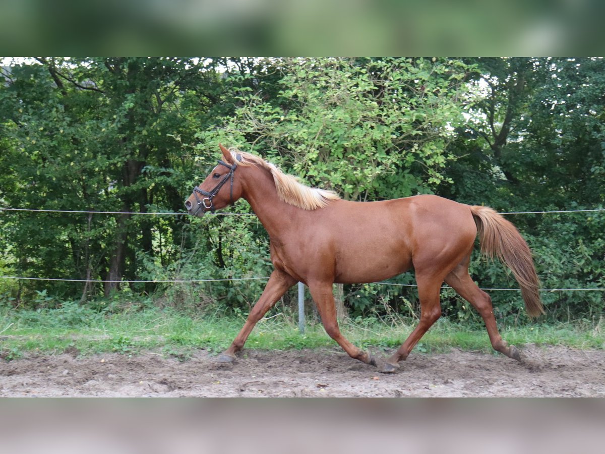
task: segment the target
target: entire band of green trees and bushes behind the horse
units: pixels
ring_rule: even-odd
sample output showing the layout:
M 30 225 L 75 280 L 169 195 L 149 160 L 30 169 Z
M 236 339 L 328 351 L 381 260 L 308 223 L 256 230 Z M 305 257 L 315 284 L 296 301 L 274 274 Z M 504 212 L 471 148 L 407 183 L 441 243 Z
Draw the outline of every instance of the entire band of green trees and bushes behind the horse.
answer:
M 0 68 L 0 206 L 182 212 L 221 141 L 349 200 L 435 192 L 499 211 L 600 208 L 604 74 L 599 58 L 35 59 Z M 509 219 L 543 288 L 605 288 L 601 212 Z M 33 309 L 19 326 L 48 329 L 149 306 L 243 317 L 265 281 L 236 279 L 272 268 L 253 215 L 2 211 L 0 248 L 3 275 L 155 281 L 0 280 L 0 308 Z M 481 287 L 516 288 L 479 254 L 471 272 Z M 158 282 L 212 279 L 224 281 Z M 404 286 L 413 274 L 389 282 L 401 286 L 345 286 L 353 320 L 418 316 L 417 292 Z M 603 293 L 542 292 L 545 319 L 597 323 Z M 526 323 L 519 292 L 489 294 L 500 324 Z M 451 289 L 442 301 L 448 320 L 482 325 Z M 292 295 L 280 304 L 288 312 Z M 191 341 L 182 323 L 175 348 Z M 123 332 L 112 339 L 139 348 Z

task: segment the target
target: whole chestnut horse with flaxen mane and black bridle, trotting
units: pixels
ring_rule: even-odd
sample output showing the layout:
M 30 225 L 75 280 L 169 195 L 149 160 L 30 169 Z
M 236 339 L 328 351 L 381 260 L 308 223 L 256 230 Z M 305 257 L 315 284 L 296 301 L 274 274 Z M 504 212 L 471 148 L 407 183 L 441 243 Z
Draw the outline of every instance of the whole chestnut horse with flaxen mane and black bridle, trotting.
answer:
M 529 317 L 544 313 L 531 251 L 511 222 L 486 206 L 420 195 L 381 202 L 350 202 L 302 185 L 253 154 L 227 150 L 195 186 L 185 206 L 201 217 L 243 197 L 269 233 L 273 272 L 246 323 L 221 361 L 234 361 L 255 324 L 298 281 L 309 286 L 325 331 L 350 357 L 393 372 L 441 315 L 445 281 L 477 309 L 495 350 L 520 360 L 500 337 L 491 298 L 473 282 L 468 265 L 479 233 L 481 250 L 496 255 L 517 279 Z M 420 320 L 386 361 L 350 343 L 340 332 L 333 283 L 370 283 L 414 268 Z

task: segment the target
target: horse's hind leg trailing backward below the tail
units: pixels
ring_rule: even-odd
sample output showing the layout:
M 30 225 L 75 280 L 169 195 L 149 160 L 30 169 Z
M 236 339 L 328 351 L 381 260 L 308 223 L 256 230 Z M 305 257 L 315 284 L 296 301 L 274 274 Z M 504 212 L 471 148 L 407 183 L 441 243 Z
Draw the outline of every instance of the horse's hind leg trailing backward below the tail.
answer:
M 469 303 L 473 304 L 473 307 L 477 309 L 477 312 L 483 317 L 485 327 L 488 331 L 489 340 L 491 341 L 494 350 L 505 354 L 509 358 L 521 361 L 521 357 L 514 345 L 508 345 L 505 340 L 502 339 L 498 328 L 495 324 L 494 311 L 492 308 L 491 298 L 488 294 L 482 291 L 473 282 L 473 279 L 468 274 L 468 258 L 465 262 L 460 263 L 454 270 L 447 275 L 445 278 L 446 283 L 451 286 L 458 294 Z

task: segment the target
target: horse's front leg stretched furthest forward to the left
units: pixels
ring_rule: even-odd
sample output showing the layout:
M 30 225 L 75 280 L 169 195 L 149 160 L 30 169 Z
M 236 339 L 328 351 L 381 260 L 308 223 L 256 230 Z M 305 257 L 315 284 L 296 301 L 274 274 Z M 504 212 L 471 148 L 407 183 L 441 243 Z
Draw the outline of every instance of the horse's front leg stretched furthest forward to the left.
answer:
M 263 294 L 258 299 L 257 303 L 254 304 L 240 334 L 237 335 L 235 340 L 231 343 L 231 346 L 218 357 L 219 361 L 231 363 L 235 360 L 235 354 L 244 347 L 244 343 L 246 343 L 250 332 L 252 332 L 252 329 L 255 324 L 257 324 L 258 320 L 263 318 L 263 315 L 265 315 L 284 293 L 286 293 L 287 289 L 295 285 L 295 283 L 296 279 L 283 271 L 276 269 L 271 273 L 271 277 L 264 288 Z

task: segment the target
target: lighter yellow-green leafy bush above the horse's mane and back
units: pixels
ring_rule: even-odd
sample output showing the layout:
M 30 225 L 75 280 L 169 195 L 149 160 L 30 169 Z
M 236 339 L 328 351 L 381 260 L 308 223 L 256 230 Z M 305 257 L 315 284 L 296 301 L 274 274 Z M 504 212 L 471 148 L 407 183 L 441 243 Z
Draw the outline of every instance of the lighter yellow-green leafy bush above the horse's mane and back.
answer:
M 267 62 L 280 90 L 244 91 L 224 126 L 200 133 L 269 154 L 345 199 L 426 192 L 453 155 L 470 68 L 450 59 L 295 58 Z M 392 188 L 397 188 L 393 192 Z

